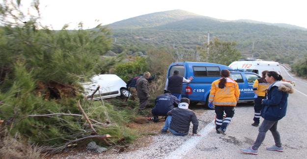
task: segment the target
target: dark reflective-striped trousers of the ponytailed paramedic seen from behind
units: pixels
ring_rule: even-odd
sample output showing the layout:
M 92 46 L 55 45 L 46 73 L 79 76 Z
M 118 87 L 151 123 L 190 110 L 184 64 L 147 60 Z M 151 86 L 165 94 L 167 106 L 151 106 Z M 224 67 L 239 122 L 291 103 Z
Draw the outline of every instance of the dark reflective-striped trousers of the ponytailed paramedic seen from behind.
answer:
M 223 117 L 224 112 L 226 114 L 225 118 Z M 216 130 L 218 130 L 220 127 L 223 129 L 226 129 L 228 124 L 230 123 L 233 115 L 234 115 L 234 106 L 215 106 L 215 113 L 217 114 L 215 124 L 216 124 Z

